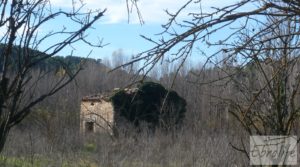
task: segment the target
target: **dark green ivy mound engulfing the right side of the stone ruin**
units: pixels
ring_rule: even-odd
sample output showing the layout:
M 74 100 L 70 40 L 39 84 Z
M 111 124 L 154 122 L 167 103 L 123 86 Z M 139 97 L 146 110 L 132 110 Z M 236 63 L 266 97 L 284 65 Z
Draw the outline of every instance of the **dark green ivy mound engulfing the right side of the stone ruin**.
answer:
M 117 127 L 122 120 L 140 127 L 146 123 L 152 130 L 172 129 L 181 125 L 186 101 L 175 91 L 154 82 L 140 84 L 137 89 L 120 90 L 112 98 Z

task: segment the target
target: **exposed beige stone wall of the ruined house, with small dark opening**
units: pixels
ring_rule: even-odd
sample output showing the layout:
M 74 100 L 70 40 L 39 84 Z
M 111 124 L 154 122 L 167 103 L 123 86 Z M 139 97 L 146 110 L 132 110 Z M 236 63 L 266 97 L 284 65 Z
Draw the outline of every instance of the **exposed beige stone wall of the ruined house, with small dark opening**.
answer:
M 108 97 L 103 95 L 83 97 L 80 107 L 80 132 L 112 134 L 114 114 Z

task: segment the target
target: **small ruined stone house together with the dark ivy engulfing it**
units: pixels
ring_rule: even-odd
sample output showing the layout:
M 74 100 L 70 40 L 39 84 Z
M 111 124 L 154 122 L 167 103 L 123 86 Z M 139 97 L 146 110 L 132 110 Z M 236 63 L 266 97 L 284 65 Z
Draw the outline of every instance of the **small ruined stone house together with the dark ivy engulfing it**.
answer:
M 127 125 L 167 130 L 179 127 L 185 112 L 186 101 L 175 91 L 145 82 L 136 88 L 115 89 L 110 95 L 82 98 L 80 130 L 110 135 L 117 133 L 116 130 L 126 131 Z

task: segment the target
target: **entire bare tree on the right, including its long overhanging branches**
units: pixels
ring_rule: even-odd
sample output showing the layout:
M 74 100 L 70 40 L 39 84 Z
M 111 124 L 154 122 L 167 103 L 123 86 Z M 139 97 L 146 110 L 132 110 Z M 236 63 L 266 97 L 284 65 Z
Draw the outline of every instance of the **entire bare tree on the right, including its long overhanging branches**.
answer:
M 229 112 L 250 135 L 290 135 L 300 111 L 296 104 L 300 85 L 300 2 L 240 0 L 210 11 L 202 9 L 204 3 L 187 0 L 175 13 L 167 11 L 170 18 L 162 26 L 161 38 L 144 37 L 155 46 L 127 65 L 143 60 L 141 68 L 147 75 L 155 64 L 171 55 L 171 62 L 179 61 L 181 68 L 197 49 L 206 59 L 200 73 L 213 65 L 222 74 L 198 84 L 230 85 L 235 91 L 231 92 L 233 97 L 228 93 L 211 96 L 227 103 Z M 198 10 L 183 19 L 179 17 L 196 6 Z M 215 39 L 220 31 L 228 33 Z M 215 51 L 206 52 L 207 47 Z M 247 154 L 245 148 L 239 150 Z

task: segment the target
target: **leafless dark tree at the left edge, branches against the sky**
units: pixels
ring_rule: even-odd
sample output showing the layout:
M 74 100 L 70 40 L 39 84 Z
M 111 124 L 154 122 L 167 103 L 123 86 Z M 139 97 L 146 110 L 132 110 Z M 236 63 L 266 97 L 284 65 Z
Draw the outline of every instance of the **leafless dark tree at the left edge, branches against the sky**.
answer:
M 59 79 L 51 81 L 45 81 L 45 76 L 53 74 L 55 69 L 40 70 L 34 77 L 32 70 L 72 44 L 102 46 L 101 41 L 96 44 L 87 41 L 85 32 L 105 10 L 83 12 L 83 4 L 78 3 L 73 1 L 73 8 L 67 11 L 52 8 L 49 0 L 0 1 L 0 151 L 10 129 L 22 121 L 32 107 L 70 83 L 81 68 L 70 69 L 61 64 L 64 72 Z M 43 26 L 58 18 L 67 23 L 55 25 L 48 33 L 40 32 Z M 48 89 L 40 91 L 41 83 L 48 84 Z

